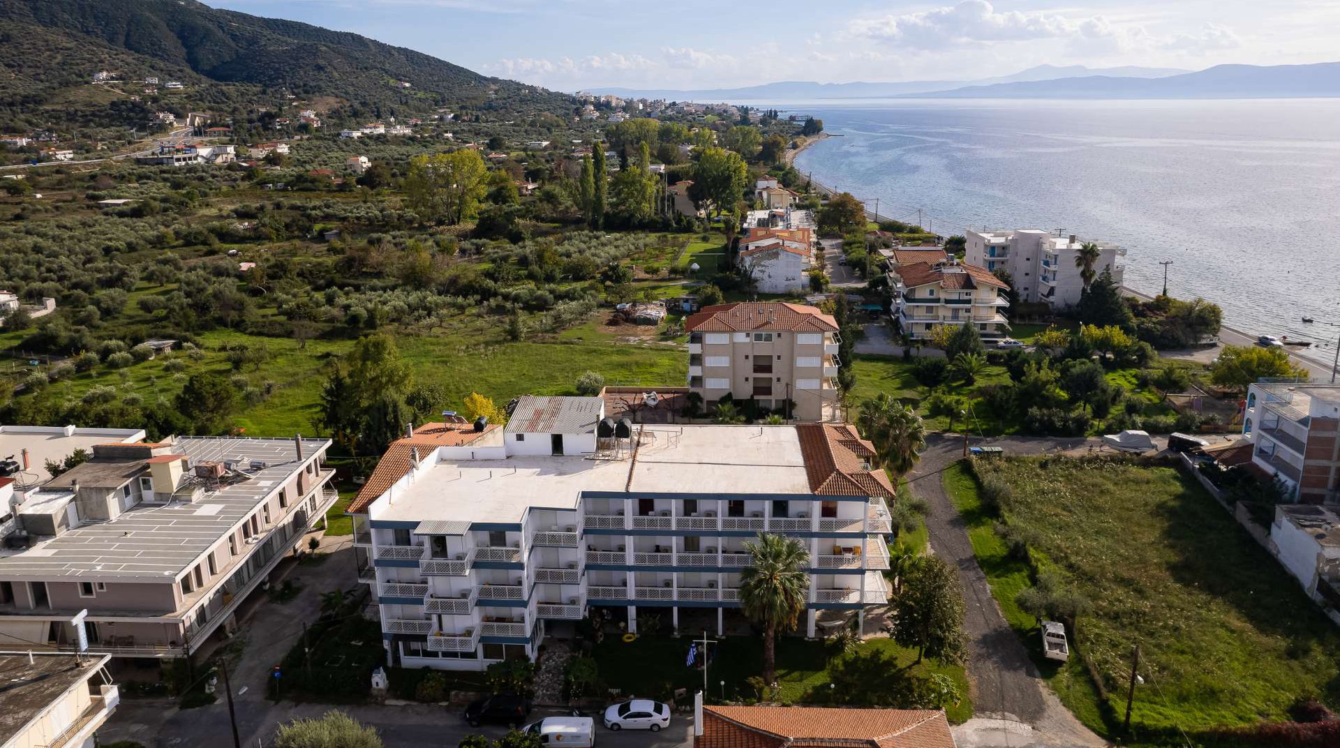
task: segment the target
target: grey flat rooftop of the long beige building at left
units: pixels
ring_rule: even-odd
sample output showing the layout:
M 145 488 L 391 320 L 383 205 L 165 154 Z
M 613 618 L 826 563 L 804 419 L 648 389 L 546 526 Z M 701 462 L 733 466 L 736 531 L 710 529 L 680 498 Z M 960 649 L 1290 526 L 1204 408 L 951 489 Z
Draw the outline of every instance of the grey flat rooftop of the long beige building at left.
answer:
M 328 445 L 328 440 L 304 438 L 303 461 Z M 141 503 L 114 520 L 80 524 L 29 548 L 0 550 L 0 579 L 173 582 L 300 466 L 291 438 L 178 437 L 172 452 L 193 465 L 233 462 L 234 472 L 217 483 L 201 480 L 204 493 L 190 503 Z M 147 458 L 131 461 L 147 475 Z M 265 466 L 252 468 L 253 461 Z M 113 464 L 127 466 L 119 460 Z M 44 499 L 39 493 L 34 500 Z

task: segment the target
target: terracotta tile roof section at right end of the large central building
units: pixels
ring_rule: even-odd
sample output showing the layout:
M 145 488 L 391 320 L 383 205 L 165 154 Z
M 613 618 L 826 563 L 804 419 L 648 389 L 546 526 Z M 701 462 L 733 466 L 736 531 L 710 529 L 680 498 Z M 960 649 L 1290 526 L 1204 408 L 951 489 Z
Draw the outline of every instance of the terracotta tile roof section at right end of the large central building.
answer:
M 800 454 L 809 489 L 824 496 L 882 496 L 892 499 L 894 484 L 883 469 L 870 469 L 875 448 L 856 429 L 831 424 L 797 424 Z

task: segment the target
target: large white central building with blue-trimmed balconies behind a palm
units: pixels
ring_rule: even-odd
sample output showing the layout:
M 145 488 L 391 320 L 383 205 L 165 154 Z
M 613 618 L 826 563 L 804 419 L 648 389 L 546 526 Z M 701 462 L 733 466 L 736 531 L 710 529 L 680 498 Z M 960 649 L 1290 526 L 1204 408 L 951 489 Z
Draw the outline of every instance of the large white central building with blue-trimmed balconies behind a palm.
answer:
M 846 425 L 632 425 L 600 398 L 524 397 L 505 429 L 389 456 L 350 504 L 393 662 L 484 669 L 608 607 L 722 633 L 745 543 L 809 550 L 804 631 L 887 601 L 894 487 Z M 385 468 L 385 469 L 383 469 Z

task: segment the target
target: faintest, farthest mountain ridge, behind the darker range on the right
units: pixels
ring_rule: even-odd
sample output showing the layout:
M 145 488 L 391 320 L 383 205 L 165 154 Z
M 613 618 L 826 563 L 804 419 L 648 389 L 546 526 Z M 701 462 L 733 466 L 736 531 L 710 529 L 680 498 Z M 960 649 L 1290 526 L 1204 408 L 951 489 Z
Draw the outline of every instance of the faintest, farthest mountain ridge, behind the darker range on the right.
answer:
M 596 94 L 614 94 L 616 97 L 643 97 L 649 99 L 694 99 L 694 101 L 745 101 L 745 99 L 875 99 L 886 97 L 900 97 L 927 91 L 945 91 L 963 86 L 988 86 L 993 83 L 1014 83 L 1024 80 L 1052 80 L 1057 78 L 1072 78 L 1077 75 L 1106 75 L 1112 78 L 1162 78 L 1167 75 L 1181 75 L 1190 72 L 1171 67 L 1106 67 L 1092 68 L 1081 64 L 1057 67 L 1040 64 L 1028 70 L 1021 70 L 1013 75 L 997 78 L 982 78 L 977 80 L 904 80 L 904 82 L 852 82 L 852 83 L 813 83 L 808 80 L 783 80 L 777 83 L 764 83 L 761 86 L 744 86 L 738 88 L 705 88 L 705 90 L 641 90 L 619 87 L 591 88 Z

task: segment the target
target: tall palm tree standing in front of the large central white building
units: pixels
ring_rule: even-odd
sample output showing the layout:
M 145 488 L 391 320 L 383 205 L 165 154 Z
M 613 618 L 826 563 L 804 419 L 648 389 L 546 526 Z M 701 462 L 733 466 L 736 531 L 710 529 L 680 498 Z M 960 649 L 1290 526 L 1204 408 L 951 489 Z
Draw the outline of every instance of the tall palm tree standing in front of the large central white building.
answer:
M 796 627 L 805 610 L 809 591 L 809 551 L 795 538 L 758 534 L 756 543 L 745 543 L 749 566 L 740 571 L 740 607 L 762 626 L 762 677 L 772 685 L 777 680 L 773 642 L 777 630 Z

